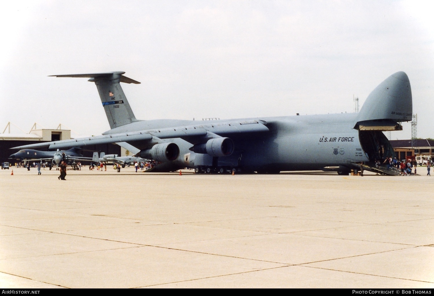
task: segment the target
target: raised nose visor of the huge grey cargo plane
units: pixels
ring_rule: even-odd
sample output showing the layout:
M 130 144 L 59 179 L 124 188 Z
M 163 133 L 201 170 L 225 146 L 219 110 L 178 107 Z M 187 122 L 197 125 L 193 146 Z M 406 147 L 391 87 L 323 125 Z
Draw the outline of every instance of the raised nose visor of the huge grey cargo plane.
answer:
M 355 128 L 362 130 L 401 130 L 397 122 L 412 119 L 411 86 L 407 74 L 396 72 L 369 95 L 357 115 Z

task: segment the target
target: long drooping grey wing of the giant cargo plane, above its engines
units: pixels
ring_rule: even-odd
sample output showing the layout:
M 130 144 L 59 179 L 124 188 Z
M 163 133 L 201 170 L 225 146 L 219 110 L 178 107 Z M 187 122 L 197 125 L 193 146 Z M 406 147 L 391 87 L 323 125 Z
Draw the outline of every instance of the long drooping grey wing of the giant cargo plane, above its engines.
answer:
M 31 145 L 23 145 L 12 149 L 40 148 L 49 146 L 49 149 L 63 149 L 69 147 L 98 145 L 118 142 L 134 141 L 158 141 L 159 139 L 181 138 L 191 144 L 197 144 L 209 138 L 219 138 L 222 136 L 237 137 L 237 135 L 269 132 L 266 122 L 256 119 L 210 122 L 201 125 L 187 125 L 170 128 L 158 128 L 137 132 L 126 132 L 111 135 L 101 135 L 87 138 L 77 138 L 62 141 L 52 141 Z

